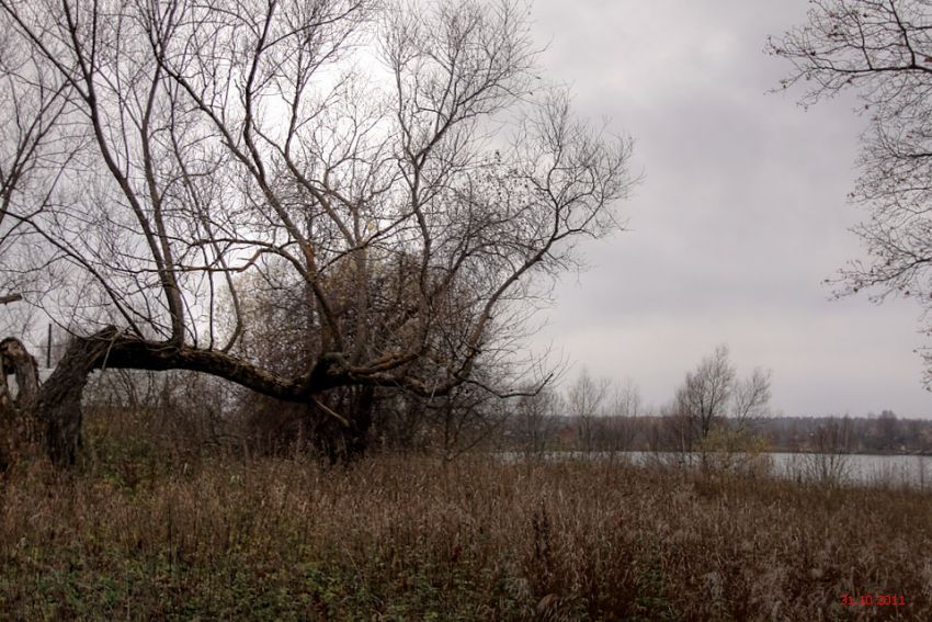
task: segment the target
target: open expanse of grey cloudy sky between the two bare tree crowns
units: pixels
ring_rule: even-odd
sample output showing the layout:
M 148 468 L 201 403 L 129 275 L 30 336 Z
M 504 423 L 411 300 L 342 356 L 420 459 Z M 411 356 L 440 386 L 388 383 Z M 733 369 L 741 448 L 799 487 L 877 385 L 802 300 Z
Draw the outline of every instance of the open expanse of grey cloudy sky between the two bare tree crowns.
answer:
M 630 376 L 646 403 L 727 343 L 739 374 L 773 370 L 785 415 L 932 417 L 921 385 L 919 307 L 830 301 L 822 281 L 863 255 L 846 203 L 865 120 L 853 100 L 808 111 L 771 93 L 788 67 L 766 36 L 804 0 L 538 0 L 542 60 L 578 112 L 635 139 L 644 181 L 629 230 L 589 244 L 537 346 L 593 375 Z

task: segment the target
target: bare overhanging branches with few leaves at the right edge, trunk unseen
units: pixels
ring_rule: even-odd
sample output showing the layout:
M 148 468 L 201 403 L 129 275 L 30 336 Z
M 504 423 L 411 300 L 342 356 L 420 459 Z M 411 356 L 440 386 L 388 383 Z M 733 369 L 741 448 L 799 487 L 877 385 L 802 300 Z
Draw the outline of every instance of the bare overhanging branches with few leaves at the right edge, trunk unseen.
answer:
M 819 0 L 806 25 L 770 42 L 793 72 L 784 87 L 806 89 L 808 105 L 857 93 L 870 118 L 861 178 L 851 194 L 870 218 L 854 227 L 867 257 L 836 280 L 839 295 L 912 297 L 929 324 L 932 265 L 932 8 L 925 0 Z M 932 329 L 927 326 L 927 335 Z M 932 355 L 925 354 L 927 363 Z M 927 372 L 925 383 L 932 383 Z

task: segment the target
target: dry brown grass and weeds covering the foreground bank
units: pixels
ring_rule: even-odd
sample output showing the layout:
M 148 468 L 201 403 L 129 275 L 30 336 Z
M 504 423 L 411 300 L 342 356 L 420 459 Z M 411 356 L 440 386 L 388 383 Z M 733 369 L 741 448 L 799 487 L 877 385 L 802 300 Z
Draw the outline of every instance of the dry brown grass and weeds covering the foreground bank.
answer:
M 928 493 L 592 462 L 88 455 L 0 485 L 0 618 L 932 619 Z

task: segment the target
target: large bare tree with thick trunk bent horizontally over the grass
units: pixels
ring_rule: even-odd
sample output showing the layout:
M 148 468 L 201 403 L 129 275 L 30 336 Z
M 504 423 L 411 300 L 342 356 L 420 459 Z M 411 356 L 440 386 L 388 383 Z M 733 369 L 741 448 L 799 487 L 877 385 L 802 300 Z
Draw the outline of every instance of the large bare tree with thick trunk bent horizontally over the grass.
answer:
M 36 150 L 68 154 L 42 160 L 46 195 L 12 193 L 32 245 L 16 257 L 50 314 L 95 328 L 39 396 L 59 460 L 103 365 L 300 403 L 346 386 L 510 394 L 524 378 L 476 365 L 513 362 L 526 301 L 576 240 L 618 227 L 629 142 L 538 79 L 511 0 L 0 0 L 0 15 L 54 77 L 42 127 L 64 147 Z M 238 276 L 272 258 L 309 328 L 293 370 L 237 349 Z

